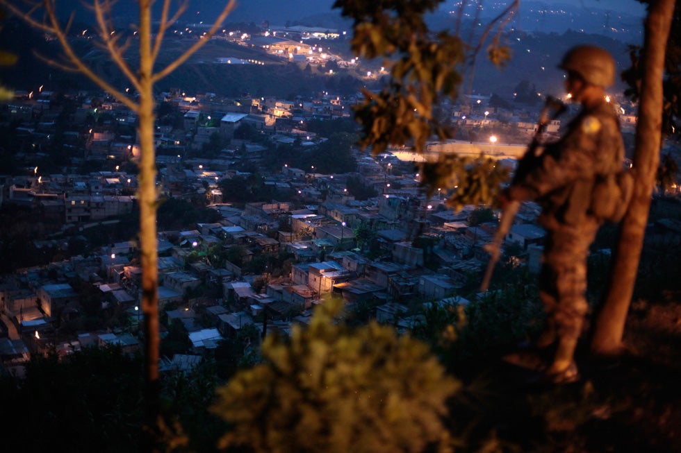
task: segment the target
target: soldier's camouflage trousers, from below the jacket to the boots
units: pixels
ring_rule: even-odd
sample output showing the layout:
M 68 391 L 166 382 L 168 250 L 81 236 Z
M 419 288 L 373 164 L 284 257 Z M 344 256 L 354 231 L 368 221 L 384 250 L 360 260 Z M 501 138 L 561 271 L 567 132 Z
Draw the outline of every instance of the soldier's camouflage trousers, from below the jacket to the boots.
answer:
M 580 225 L 554 225 L 544 245 L 539 297 L 548 330 L 559 340 L 577 340 L 582 332 L 586 302 L 586 258 L 599 223 L 585 219 Z

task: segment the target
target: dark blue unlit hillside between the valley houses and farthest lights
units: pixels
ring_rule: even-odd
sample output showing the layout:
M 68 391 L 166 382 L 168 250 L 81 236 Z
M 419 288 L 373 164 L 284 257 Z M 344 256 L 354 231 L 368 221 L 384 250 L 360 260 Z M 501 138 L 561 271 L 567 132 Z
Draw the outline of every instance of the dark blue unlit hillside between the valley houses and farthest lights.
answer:
M 15 37 L 21 36 L 21 40 Z M 628 67 L 627 43 L 602 35 L 587 35 L 577 31 L 557 33 L 523 33 L 514 31 L 507 35 L 507 44 L 512 51 L 512 58 L 505 67 L 494 67 L 485 58 L 484 53 L 477 58 L 473 74 L 473 91 L 483 94 L 497 93 L 511 96 L 514 88 L 522 80 L 530 81 L 539 92 L 559 94 L 562 90 L 562 74 L 557 65 L 561 55 L 575 44 L 592 42 L 609 49 L 618 62 L 618 69 Z M 159 63 L 167 62 L 176 56 L 181 49 L 191 44 L 191 40 L 165 41 Z M 335 46 L 341 46 L 338 42 Z M 113 71 L 106 53 L 92 48 L 89 41 L 77 42 L 81 54 L 87 55 L 90 62 L 113 80 L 115 85 L 125 86 L 127 83 L 120 74 Z M 39 33 L 27 28 L 24 24 L 9 21 L 0 31 L 0 48 L 19 55 L 19 62 L 14 67 L 3 68 L 0 81 L 15 89 L 35 89 L 46 85 L 46 89 L 69 89 L 92 87 L 87 80 L 78 74 L 66 74 L 59 69 L 49 67 L 37 58 L 34 50 L 41 55 L 58 55 L 54 42 L 46 42 Z M 218 57 L 236 57 L 263 61 L 263 65 L 217 65 L 213 63 Z M 136 60 L 134 49 L 130 49 L 128 59 Z M 378 65 L 379 62 L 375 62 Z M 333 77 L 315 74 L 315 71 L 303 71 L 304 68 L 290 65 L 284 60 L 277 60 L 260 49 L 231 44 L 226 41 L 211 42 L 188 63 L 174 71 L 169 77 L 161 80 L 157 88 L 166 90 L 170 87 L 181 87 L 186 92 L 215 92 L 225 96 L 240 96 L 248 93 L 254 96 L 282 96 L 300 94 L 309 96 L 311 91 L 326 89 L 343 94 L 355 92 L 356 74 L 336 71 Z M 375 68 L 370 68 L 375 69 Z M 623 85 L 618 85 L 618 91 Z

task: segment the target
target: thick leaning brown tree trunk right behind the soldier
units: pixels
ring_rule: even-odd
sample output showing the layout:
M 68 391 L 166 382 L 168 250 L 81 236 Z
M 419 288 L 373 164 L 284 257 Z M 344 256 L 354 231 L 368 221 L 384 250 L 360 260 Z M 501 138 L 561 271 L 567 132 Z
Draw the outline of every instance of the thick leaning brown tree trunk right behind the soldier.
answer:
M 675 0 L 650 1 L 643 42 L 643 80 L 634 151 L 634 196 L 623 220 L 614 254 L 612 278 L 593 332 L 591 350 L 615 355 L 623 351 L 622 337 L 634 293 L 643 236 L 655 185 L 662 140 L 662 76 Z

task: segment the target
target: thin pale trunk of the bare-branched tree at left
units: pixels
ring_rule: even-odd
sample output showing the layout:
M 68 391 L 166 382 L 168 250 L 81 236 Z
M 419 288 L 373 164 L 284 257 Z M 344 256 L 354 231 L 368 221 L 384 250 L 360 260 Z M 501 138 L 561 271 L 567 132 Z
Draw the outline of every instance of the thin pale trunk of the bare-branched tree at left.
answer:
M 154 150 L 154 80 L 151 58 L 151 5 L 140 0 L 140 250 L 142 311 L 145 314 L 145 426 L 153 430 L 158 402 L 158 246 L 156 239 L 156 158 Z M 145 449 L 146 450 L 146 449 Z

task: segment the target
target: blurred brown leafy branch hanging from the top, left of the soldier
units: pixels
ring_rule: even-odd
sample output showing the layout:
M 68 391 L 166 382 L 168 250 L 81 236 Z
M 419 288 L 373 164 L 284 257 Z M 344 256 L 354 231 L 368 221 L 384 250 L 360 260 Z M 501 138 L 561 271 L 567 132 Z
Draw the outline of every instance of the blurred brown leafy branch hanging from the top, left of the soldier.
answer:
M 501 44 L 501 33 L 518 8 L 518 0 L 488 24 L 475 45 L 460 37 L 463 8 L 454 31 L 434 33 L 425 22 L 425 14 L 434 11 L 443 0 L 336 0 L 334 8 L 353 19 L 352 51 L 363 58 L 383 58 L 390 68 L 386 86 L 380 92 L 363 89 L 363 101 L 354 106 L 360 125 L 359 146 L 374 155 L 390 146 L 408 145 L 424 153 L 433 137 L 453 137 L 449 118 L 441 119 L 439 107 L 457 99 L 463 83 L 462 71 L 468 67 L 469 78 L 477 54 L 496 29 L 487 47 L 489 58 L 503 65 L 511 54 Z M 482 1 L 473 2 L 481 6 Z M 479 8 L 476 8 L 479 10 Z M 478 23 L 476 20 L 475 24 Z M 470 41 L 473 41 L 473 27 Z M 448 204 L 460 209 L 464 204 L 491 205 L 499 185 L 508 172 L 491 159 L 471 159 L 457 155 L 441 156 L 436 164 L 421 164 L 423 185 L 432 194 L 435 187 L 445 188 Z

